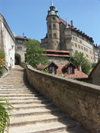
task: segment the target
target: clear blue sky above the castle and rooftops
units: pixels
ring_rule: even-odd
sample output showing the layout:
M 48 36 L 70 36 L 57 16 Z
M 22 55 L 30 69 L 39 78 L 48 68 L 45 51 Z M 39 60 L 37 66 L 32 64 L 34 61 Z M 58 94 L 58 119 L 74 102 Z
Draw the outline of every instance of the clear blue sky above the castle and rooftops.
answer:
M 46 17 L 51 0 L 0 0 L 0 13 L 15 36 L 41 41 L 46 36 Z M 53 0 L 58 15 L 100 45 L 100 0 Z

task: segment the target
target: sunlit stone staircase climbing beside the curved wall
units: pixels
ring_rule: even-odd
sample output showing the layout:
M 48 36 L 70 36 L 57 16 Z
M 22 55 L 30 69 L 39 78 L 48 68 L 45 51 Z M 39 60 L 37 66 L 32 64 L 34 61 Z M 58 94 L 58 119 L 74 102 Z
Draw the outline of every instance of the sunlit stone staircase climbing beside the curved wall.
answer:
M 9 133 L 89 133 L 32 88 L 20 66 L 0 79 L 0 97 L 14 107 Z

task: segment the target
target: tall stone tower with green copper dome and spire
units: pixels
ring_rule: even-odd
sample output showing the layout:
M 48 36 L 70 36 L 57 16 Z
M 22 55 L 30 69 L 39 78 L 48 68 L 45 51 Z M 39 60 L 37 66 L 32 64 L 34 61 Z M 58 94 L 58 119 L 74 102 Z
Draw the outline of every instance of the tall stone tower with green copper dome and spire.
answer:
M 59 17 L 57 9 L 55 9 L 55 7 L 53 6 L 52 0 L 46 20 L 47 20 L 47 33 L 48 33 L 47 49 L 59 50 L 60 49 Z

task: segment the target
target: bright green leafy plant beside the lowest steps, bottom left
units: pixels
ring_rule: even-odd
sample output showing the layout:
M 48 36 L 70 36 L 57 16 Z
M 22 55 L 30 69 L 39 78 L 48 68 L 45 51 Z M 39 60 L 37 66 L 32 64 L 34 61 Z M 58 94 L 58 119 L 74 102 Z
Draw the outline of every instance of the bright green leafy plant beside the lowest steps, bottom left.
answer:
M 8 132 L 6 127 L 10 126 L 8 113 L 11 109 L 13 109 L 13 107 L 8 103 L 8 101 L 0 98 L 0 133 L 4 133 L 4 131 Z

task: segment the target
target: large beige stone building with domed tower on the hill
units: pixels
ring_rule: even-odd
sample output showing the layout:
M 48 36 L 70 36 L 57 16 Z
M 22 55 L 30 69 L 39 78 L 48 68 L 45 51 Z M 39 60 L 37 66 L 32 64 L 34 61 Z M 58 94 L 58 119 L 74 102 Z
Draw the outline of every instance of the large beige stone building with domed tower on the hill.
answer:
M 91 63 L 95 61 L 93 39 L 75 28 L 73 21 L 68 24 L 59 18 L 58 11 L 52 2 L 46 20 L 47 34 L 45 38 L 41 39 L 40 47 L 69 51 L 70 55 L 76 51 L 82 52 Z

